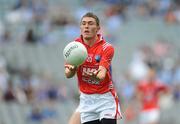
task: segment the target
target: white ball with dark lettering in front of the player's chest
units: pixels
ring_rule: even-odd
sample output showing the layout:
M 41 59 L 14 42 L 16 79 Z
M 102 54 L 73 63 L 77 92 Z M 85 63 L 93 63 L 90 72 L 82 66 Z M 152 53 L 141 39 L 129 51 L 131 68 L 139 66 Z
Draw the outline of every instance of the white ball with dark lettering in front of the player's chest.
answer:
M 88 52 L 82 43 L 72 41 L 65 46 L 63 55 L 65 62 L 74 66 L 79 66 L 86 60 Z

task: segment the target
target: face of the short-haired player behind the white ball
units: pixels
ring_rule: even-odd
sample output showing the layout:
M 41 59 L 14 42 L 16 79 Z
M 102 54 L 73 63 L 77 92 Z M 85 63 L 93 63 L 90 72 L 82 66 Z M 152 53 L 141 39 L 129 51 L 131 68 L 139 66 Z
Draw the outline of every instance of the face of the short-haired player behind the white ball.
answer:
M 84 39 L 90 40 L 96 37 L 100 27 L 92 17 L 84 17 L 80 24 L 81 35 Z

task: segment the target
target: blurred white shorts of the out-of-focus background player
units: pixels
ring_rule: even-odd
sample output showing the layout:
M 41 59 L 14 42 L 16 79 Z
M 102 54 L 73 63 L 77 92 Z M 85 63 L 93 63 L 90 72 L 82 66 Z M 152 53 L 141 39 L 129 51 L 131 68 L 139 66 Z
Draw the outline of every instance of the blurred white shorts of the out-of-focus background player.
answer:
M 153 122 L 158 122 L 159 118 L 160 118 L 159 109 L 142 111 L 140 114 L 140 124 L 149 124 Z

